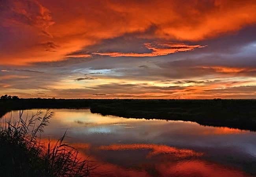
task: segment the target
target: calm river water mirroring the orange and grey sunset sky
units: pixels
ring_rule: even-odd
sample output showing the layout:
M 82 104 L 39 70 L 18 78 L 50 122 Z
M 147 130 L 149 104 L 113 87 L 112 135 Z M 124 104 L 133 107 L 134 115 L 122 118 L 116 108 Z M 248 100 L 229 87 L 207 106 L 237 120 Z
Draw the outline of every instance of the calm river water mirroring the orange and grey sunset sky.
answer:
M 45 110 L 44 110 L 45 111 Z M 95 176 L 256 176 L 256 133 L 193 122 L 126 119 L 52 109 L 43 137 L 66 138 L 99 167 Z M 30 116 L 32 109 L 25 111 Z M 13 111 L 12 116 L 18 117 Z M 9 118 L 10 113 L 6 114 Z

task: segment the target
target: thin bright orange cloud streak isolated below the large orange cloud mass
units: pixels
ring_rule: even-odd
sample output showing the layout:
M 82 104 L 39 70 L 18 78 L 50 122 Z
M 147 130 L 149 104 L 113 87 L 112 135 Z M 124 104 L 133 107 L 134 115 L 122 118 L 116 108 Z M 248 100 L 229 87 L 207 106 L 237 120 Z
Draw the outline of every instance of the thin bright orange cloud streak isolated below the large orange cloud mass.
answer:
M 96 55 L 108 55 L 111 57 L 155 57 L 155 56 L 162 56 L 168 55 L 170 53 L 177 53 L 177 52 L 186 52 L 190 50 L 194 50 L 195 48 L 202 48 L 205 46 L 201 45 L 187 45 L 187 44 L 175 44 L 175 43 L 146 43 L 145 47 L 152 52 L 150 53 L 120 53 L 120 52 L 107 52 L 107 53 L 100 53 L 95 52 L 93 54 Z

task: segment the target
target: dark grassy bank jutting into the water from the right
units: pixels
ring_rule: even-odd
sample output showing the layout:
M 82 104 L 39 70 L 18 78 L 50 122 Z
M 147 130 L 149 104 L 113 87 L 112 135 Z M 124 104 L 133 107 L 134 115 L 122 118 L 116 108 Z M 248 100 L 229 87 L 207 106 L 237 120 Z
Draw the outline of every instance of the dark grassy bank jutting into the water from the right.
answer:
M 256 100 L 126 100 L 93 106 L 91 112 L 126 118 L 184 120 L 256 131 Z

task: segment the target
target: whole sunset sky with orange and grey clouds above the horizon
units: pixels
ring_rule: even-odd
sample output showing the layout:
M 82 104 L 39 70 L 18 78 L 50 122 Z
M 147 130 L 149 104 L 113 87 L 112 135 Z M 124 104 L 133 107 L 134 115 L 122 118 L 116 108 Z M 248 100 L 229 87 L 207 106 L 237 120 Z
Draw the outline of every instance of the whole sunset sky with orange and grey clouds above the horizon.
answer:
M 0 0 L 0 94 L 256 99 L 255 0 Z

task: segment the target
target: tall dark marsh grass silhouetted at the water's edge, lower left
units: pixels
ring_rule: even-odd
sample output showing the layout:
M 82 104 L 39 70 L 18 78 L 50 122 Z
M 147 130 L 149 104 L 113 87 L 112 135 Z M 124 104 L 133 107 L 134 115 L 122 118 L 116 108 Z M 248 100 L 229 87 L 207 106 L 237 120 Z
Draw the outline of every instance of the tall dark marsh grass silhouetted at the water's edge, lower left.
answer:
M 88 159 L 64 142 L 65 134 L 57 141 L 41 142 L 41 133 L 54 112 L 38 111 L 19 119 L 2 120 L 0 124 L 1 176 L 15 177 L 84 177 L 93 170 Z

